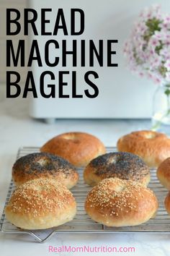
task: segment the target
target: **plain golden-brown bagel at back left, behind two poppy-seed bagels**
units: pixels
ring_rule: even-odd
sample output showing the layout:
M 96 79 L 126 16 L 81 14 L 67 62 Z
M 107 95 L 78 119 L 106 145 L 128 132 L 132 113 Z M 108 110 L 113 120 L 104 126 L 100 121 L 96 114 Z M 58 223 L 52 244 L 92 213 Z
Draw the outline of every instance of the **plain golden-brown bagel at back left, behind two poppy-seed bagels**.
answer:
M 76 167 L 86 166 L 91 159 L 106 152 L 97 137 L 84 132 L 68 132 L 53 137 L 40 150 L 59 155 Z

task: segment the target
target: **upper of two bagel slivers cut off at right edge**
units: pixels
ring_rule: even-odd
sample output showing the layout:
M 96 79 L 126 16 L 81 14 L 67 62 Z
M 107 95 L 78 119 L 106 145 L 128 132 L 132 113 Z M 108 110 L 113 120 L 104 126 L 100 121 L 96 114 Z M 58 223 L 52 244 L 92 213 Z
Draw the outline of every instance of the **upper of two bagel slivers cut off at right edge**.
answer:
M 161 184 L 170 190 L 170 158 L 166 158 L 157 169 L 157 177 Z

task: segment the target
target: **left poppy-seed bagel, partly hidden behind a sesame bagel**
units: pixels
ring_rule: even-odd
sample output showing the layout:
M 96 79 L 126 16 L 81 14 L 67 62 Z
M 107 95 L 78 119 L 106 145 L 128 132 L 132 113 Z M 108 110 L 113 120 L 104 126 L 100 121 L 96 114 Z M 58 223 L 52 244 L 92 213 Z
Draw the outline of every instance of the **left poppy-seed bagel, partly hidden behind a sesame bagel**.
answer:
M 19 158 L 12 168 L 12 178 L 19 186 L 31 179 L 53 178 L 70 189 L 79 180 L 71 163 L 50 153 L 32 153 Z

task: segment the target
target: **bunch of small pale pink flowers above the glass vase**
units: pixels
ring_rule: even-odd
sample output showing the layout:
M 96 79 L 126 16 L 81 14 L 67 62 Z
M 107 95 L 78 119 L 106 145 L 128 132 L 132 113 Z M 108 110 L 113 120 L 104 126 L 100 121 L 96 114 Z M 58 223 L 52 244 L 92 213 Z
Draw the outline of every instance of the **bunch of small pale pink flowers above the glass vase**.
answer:
M 151 30 L 148 22 L 152 20 L 158 20 L 159 29 Z M 156 83 L 169 80 L 170 15 L 161 13 L 158 5 L 144 9 L 125 43 L 124 54 L 130 70 L 140 77 L 146 75 Z M 162 71 L 164 67 L 166 74 Z

